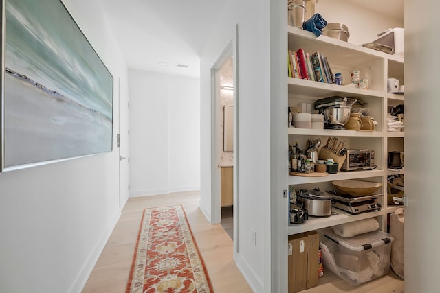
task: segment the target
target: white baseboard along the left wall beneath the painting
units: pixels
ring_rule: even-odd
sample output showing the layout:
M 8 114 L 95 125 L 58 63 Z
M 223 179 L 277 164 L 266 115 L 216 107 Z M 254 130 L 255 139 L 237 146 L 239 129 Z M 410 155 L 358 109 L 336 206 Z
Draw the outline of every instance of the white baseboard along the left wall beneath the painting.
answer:
M 113 232 L 113 229 L 118 223 L 120 216 L 121 216 L 120 209 L 116 209 L 115 213 L 111 217 L 109 224 L 107 225 L 107 228 L 105 229 L 104 233 L 102 233 L 102 236 L 100 237 L 98 243 L 90 253 L 89 257 L 87 258 L 87 261 L 85 262 L 83 268 L 80 270 L 72 287 L 69 289 L 68 291 L 69 293 L 77 293 L 83 291 L 84 286 L 87 283 L 87 280 L 89 279 L 91 271 L 94 270 L 96 262 L 98 261 L 102 253 L 102 250 L 104 250 L 104 246 L 105 244 L 107 244 L 107 241 L 109 240 L 110 235 Z

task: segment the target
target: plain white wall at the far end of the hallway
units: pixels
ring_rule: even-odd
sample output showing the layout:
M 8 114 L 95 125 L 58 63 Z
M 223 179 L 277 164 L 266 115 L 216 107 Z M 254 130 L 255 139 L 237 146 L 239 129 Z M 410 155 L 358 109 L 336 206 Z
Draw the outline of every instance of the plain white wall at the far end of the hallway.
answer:
M 198 78 L 129 70 L 130 196 L 200 189 Z

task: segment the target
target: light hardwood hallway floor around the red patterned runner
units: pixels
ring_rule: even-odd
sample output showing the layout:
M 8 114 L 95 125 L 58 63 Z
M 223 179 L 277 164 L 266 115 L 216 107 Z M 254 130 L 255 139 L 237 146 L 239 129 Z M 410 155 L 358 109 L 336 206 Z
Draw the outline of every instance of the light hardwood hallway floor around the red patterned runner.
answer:
M 178 204 L 184 207 L 214 292 L 252 292 L 232 258 L 232 239 L 220 224 L 209 224 L 199 200 L 198 191 L 130 198 L 83 292 L 125 292 L 142 212 L 148 207 Z

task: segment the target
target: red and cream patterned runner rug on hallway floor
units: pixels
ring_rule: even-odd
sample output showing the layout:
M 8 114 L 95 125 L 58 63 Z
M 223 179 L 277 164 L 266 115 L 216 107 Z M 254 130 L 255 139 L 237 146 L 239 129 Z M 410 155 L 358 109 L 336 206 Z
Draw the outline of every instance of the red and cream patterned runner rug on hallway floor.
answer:
M 126 293 L 213 292 L 181 206 L 145 209 Z

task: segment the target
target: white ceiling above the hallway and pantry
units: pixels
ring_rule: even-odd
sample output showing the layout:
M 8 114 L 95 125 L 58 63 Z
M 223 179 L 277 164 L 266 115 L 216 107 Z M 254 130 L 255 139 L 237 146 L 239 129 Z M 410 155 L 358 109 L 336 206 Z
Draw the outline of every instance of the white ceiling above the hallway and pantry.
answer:
M 228 2 L 101 1 L 130 69 L 197 78 L 206 36 Z M 350 1 L 403 22 L 404 0 Z

